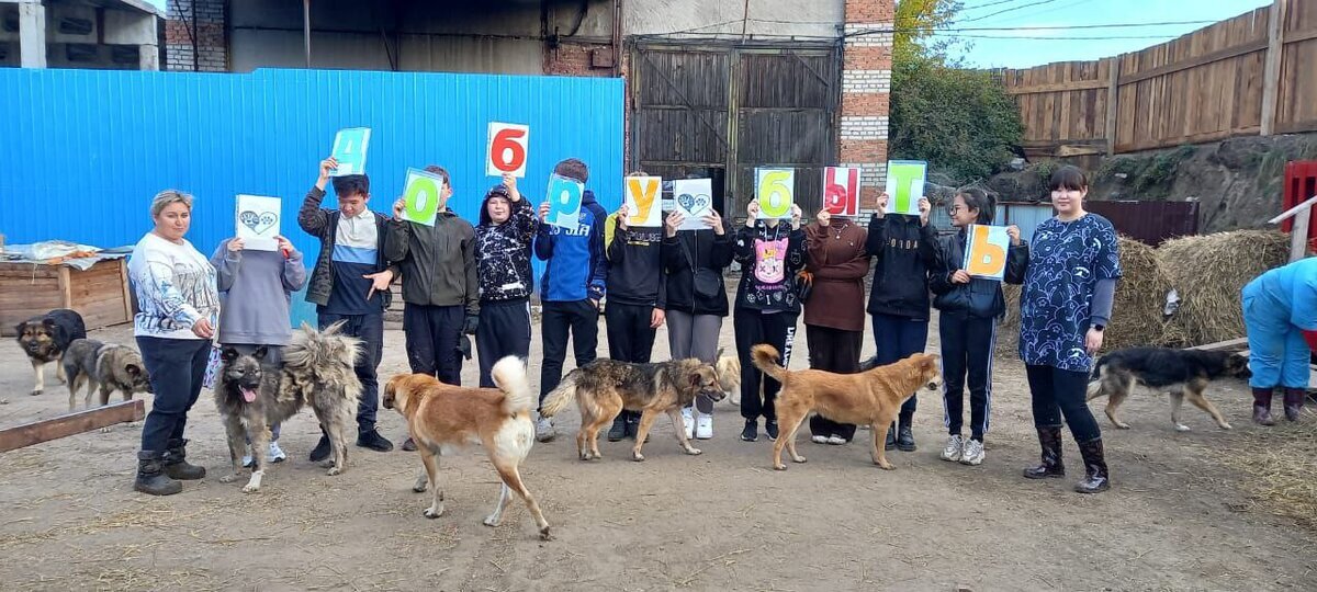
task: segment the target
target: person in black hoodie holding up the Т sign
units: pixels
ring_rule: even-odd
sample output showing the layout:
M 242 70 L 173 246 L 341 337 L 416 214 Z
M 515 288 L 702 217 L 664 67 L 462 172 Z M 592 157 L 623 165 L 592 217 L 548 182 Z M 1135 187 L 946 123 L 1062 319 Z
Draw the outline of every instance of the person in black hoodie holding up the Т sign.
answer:
M 869 218 L 864 245 L 876 259 L 868 310 L 873 317 L 878 366 L 918 354 L 927 345 L 928 271 L 938 263 L 938 233 L 928 224 L 932 209 L 928 200 L 919 199 L 919 216 L 884 214 L 888 200 L 886 193 L 878 196 L 878 210 Z M 911 422 L 918 404 L 918 397 L 911 396 L 901 405 L 900 430 L 896 425 L 888 428 L 888 450 L 915 450 Z

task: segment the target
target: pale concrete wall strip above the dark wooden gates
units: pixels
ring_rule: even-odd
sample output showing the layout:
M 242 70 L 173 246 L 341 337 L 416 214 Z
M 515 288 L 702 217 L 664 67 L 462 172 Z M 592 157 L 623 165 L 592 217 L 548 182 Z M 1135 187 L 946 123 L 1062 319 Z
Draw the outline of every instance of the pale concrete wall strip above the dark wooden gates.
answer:
M 843 5 L 843 0 L 628 0 L 622 22 L 628 37 L 740 37 L 744 20 L 747 37 L 836 38 Z

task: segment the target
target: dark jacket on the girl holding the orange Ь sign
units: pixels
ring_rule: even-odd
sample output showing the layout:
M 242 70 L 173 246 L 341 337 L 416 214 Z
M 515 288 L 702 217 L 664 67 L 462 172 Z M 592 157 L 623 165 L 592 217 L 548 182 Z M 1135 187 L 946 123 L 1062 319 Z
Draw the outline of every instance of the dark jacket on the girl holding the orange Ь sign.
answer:
M 969 278 L 968 284 L 951 282 L 956 270 L 965 263 L 965 229 L 938 239 L 938 264 L 928 278 L 932 289 L 932 305 L 947 314 L 961 314 L 977 318 L 997 318 L 1006 312 L 1006 299 L 1001 293 L 1001 282 L 984 278 Z M 1021 283 L 1029 266 L 1029 249 L 1023 245 L 1010 246 L 1006 253 L 1006 282 Z

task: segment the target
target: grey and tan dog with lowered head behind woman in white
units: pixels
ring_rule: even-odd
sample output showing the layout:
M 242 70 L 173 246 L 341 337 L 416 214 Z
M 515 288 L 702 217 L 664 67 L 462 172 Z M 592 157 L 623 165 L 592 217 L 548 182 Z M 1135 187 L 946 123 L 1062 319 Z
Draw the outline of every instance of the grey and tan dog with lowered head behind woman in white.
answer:
M 78 389 L 87 387 L 84 405 L 91 408 L 91 395 L 100 391 L 99 404 L 109 403 L 109 393 L 119 391 L 124 400 L 133 393 L 151 392 L 151 378 L 146 372 L 142 354 L 137 350 L 101 343 L 96 339 L 74 339 L 65 351 L 65 376 L 68 379 L 68 410 L 78 405 Z

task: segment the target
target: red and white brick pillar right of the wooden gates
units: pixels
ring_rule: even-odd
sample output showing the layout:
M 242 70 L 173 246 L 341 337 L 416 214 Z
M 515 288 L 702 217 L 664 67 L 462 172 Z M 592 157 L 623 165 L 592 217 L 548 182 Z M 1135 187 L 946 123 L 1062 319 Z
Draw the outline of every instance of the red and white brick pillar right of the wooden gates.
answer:
M 872 210 L 888 176 L 892 28 L 896 0 L 846 0 L 838 159 L 861 167 L 860 208 Z

